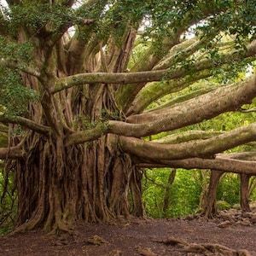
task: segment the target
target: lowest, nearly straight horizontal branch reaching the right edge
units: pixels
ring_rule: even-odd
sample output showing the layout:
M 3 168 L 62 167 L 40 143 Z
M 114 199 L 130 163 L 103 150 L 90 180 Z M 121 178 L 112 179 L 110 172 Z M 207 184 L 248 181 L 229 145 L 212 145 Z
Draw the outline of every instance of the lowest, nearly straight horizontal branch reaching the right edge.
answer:
M 158 164 L 150 162 L 141 162 L 137 166 L 140 167 L 172 167 L 183 169 L 211 169 L 224 172 L 245 173 L 256 175 L 256 161 L 250 160 L 234 160 L 225 158 L 202 159 L 189 158 L 184 160 L 158 160 Z

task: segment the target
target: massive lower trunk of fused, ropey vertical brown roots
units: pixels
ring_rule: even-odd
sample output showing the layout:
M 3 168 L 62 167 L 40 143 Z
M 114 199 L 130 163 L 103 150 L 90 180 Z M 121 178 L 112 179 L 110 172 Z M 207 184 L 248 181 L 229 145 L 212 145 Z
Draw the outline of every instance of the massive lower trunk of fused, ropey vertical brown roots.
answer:
M 24 148 L 26 160 L 15 163 L 21 229 L 43 225 L 44 230 L 68 230 L 74 221 L 129 216 L 130 187 L 138 188 L 140 180 L 134 178 L 137 170 L 130 156 L 113 148 L 111 137 L 67 147 L 60 156 L 53 138 L 33 136 L 32 144 Z M 140 189 L 132 193 L 133 211 L 142 216 L 139 193 Z

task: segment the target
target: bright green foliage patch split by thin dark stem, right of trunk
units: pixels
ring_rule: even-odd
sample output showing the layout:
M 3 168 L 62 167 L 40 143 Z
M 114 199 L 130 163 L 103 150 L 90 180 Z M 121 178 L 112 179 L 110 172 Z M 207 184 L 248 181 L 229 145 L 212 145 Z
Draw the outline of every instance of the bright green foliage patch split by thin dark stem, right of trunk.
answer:
M 148 216 L 174 218 L 197 211 L 201 194 L 199 172 L 177 170 L 174 183 L 169 185 L 170 201 L 166 212 L 162 211 L 162 207 L 170 169 L 153 169 L 146 172 L 148 178 L 143 179 L 143 201 Z

